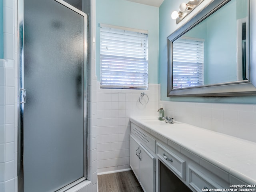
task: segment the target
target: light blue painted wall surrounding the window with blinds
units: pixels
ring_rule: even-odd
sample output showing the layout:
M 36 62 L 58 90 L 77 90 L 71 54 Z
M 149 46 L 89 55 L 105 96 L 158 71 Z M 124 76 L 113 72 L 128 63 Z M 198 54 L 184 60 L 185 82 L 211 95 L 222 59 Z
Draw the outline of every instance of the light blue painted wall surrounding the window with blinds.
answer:
M 96 75 L 100 80 L 100 23 L 148 30 L 148 82 L 158 84 L 157 7 L 126 0 L 96 0 Z

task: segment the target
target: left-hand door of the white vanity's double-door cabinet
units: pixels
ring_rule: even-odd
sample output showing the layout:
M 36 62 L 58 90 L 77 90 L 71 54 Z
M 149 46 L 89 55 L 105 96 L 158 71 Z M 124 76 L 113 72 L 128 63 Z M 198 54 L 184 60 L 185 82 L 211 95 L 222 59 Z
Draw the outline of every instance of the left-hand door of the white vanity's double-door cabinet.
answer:
M 140 145 L 134 137 L 130 136 L 130 166 L 137 177 L 140 180 L 140 159 L 138 158 Z

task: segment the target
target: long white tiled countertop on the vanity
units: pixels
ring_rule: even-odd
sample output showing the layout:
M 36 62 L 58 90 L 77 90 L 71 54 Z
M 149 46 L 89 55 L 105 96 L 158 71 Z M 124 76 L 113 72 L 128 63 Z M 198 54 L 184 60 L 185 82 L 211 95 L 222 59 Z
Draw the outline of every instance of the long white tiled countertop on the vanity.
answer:
M 256 143 L 157 116 L 130 117 L 130 121 L 185 154 L 226 181 L 231 176 L 256 184 Z

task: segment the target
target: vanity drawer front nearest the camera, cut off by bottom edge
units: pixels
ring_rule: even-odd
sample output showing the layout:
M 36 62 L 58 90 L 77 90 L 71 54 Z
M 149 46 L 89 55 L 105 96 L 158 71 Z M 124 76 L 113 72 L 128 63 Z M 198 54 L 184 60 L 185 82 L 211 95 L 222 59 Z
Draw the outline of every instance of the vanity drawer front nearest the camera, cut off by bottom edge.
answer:
M 188 166 L 188 176 L 189 185 L 197 192 L 202 192 L 203 189 L 206 191 L 210 189 L 223 189 L 223 187 L 211 180 L 208 176 L 204 175 L 202 172 L 196 170 L 190 165 Z

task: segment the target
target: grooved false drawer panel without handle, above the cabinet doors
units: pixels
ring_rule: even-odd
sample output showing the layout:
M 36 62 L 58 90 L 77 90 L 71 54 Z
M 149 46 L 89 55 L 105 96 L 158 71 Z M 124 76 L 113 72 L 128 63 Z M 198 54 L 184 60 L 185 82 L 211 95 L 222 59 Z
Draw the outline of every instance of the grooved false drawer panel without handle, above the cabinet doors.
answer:
M 137 138 L 139 138 L 140 143 L 146 145 L 154 153 L 156 152 L 156 140 L 150 137 L 146 132 L 141 130 L 138 126 L 131 123 L 131 132 Z

